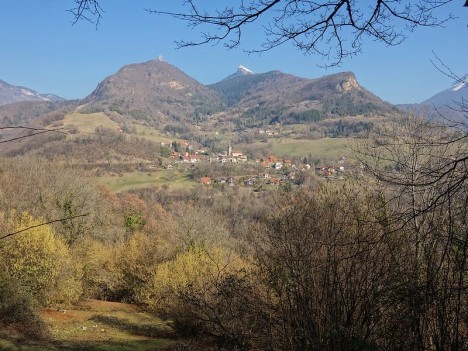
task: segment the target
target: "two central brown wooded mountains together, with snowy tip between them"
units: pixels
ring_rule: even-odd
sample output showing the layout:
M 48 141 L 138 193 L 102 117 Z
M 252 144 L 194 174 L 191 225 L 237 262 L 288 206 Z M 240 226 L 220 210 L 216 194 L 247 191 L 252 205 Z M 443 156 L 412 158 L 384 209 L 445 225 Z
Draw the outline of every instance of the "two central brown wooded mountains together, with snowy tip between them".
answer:
M 280 71 L 255 74 L 239 66 L 207 86 L 162 59 L 123 67 L 82 105 L 82 111 L 118 113 L 157 127 L 230 121 L 239 129 L 395 111 L 351 72 L 307 79 Z

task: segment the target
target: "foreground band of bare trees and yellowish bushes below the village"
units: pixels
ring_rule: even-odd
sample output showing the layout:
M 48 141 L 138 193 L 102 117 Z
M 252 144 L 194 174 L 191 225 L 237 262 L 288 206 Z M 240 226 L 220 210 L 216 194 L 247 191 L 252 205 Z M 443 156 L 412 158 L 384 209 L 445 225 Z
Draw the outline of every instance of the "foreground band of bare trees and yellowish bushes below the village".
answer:
M 0 240 L 2 322 L 97 298 L 221 349 L 465 350 L 466 140 L 405 124 L 358 147 L 360 179 L 278 192 L 116 195 L 4 160 L 2 233 L 62 220 Z

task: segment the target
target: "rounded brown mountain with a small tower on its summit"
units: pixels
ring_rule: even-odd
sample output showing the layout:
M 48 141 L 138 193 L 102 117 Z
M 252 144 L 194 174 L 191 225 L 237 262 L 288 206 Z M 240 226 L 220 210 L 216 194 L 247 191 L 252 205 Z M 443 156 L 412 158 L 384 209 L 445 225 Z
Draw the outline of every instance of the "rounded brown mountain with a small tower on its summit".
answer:
M 157 60 L 122 67 L 86 98 L 89 107 L 160 123 L 193 121 L 220 108 L 213 90 L 177 67 Z

